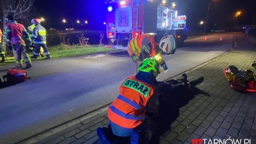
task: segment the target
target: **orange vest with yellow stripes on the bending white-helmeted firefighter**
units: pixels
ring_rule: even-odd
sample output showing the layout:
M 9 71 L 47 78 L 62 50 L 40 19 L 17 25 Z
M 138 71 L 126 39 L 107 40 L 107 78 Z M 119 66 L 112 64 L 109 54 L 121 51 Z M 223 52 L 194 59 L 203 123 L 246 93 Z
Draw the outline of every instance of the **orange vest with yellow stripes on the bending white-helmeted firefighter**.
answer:
M 129 45 L 128 45 L 128 48 L 135 54 L 139 57 L 140 55 L 140 51 L 141 49 L 143 48 L 145 51 L 148 51 L 149 53 L 149 57 L 151 56 L 154 56 L 156 54 L 156 46 L 157 46 L 157 43 L 155 43 L 154 41 L 154 38 L 155 38 L 155 35 L 154 33 L 148 33 L 148 34 L 143 34 L 143 35 L 140 35 L 140 36 L 136 36 L 134 37 L 130 42 L 129 42 Z M 149 50 L 147 50 L 147 48 L 145 46 L 143 46 L 142 44 L 142 41 L 143 41 L 143 38 L 144 37 L 147 37 L 149 38 L 150 40 L 150 43 L 152 45 L 152 49 L 151 49 L 151 52 Z

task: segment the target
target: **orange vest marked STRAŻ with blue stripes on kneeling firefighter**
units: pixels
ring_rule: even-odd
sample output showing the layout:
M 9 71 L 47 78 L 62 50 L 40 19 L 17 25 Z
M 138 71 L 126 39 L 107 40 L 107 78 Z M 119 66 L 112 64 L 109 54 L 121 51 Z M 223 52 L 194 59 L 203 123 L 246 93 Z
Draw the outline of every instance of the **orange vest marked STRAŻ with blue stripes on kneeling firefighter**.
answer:
M 125 128 L 135 128 L 146 118 L 146 104 L 154 94 L 155 88 L 137 80 L 136 76 L 128 77 L 119 88 L 117 99 L 108 108 L 111 122 Z

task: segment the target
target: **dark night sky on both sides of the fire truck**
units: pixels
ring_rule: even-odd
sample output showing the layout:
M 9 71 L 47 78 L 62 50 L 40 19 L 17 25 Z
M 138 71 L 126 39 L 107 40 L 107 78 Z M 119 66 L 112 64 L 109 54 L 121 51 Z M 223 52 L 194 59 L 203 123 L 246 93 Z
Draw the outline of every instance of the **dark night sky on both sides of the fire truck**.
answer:
M 168 0 L 167 0 L 168 1 Z M 256 0 L 170 0 L 176 1 L 178 15 L 187 15 L 187 26 L 190 29 L 202 29 L 201 20 L 206 19 L 209 1 L 209 28 L 227 29 L 235 24 L 236 11 L 242 11 L 237 24 L 252 24 L 256 14 Z M 75 27 L 82 29 L 105 30 L 103 22 L 106 19 L 107 4 L 104 0 L 35 0 L 36 13 L 32 17 L 44 17 L 46 28 L 64 29 Z M 61 20 L 65 18 L 66 24 Z M 78 25 L 88 20 L 88 25 Z M 255 18 L 256 19 L 256 18 Z M 217 24 L 215 26 L 215 23 Z M 255 20 L 256 23 L 256 20 Z M 83 23 L 84 24 L 84 23 Z

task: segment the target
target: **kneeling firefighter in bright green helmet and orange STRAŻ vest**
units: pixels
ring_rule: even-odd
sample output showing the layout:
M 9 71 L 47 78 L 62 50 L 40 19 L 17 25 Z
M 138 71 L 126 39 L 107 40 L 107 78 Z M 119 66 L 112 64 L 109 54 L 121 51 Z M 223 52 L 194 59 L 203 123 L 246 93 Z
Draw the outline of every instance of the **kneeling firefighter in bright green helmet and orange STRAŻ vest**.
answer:
M 139 135 L 146 144 L 155 132 L 155 123 L 146 113 L 158 113 L 159 64 L 154 57 L 146 58 L 138 67 L 137 75 L 128 77 L 119 88 L 117 99 L 108 108 L 110 127 L 99 127 L 97 133 L 103 144 L 110 144 L 105 134 L 131 136 L 131 144 L 138 144 Z M 110 132 L 108 132 L 110 131 Z M 138 132 L 141 131 L 140 134 Z M 109 143 L 108 143 L 109 142 Z

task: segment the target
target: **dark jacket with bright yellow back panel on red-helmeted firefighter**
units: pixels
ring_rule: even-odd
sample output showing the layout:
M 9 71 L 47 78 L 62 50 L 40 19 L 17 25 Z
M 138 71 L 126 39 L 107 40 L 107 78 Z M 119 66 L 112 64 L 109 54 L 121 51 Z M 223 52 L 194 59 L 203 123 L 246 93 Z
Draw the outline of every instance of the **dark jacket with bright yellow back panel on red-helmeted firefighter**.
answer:
M 34 44 L 46 44 L 46 28 L 37 24 L 32 33 Z

